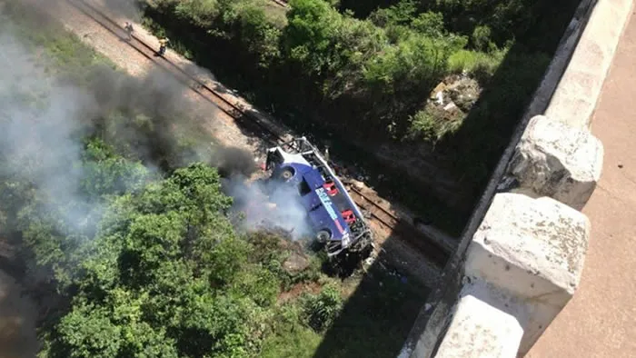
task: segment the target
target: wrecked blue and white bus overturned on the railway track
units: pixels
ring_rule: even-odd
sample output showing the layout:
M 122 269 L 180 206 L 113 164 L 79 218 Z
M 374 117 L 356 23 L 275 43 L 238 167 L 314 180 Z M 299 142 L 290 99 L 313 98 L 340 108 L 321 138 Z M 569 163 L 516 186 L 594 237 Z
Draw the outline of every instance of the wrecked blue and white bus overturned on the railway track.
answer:
M 268 149 L 264 169 L 271 173 L 269 180 L 297 188 L 315 239 L 330 257 L 371 249 L 372 232 L 362 212 L 305 137 Z

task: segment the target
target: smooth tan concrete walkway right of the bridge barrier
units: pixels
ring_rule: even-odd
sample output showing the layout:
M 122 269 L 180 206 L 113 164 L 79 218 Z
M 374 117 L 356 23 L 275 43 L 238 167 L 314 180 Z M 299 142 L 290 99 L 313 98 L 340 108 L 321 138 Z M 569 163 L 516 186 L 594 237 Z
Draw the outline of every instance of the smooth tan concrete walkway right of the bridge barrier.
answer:
M 636 16 L 621 37 L 591 131 L 603 174 L 583 208 L 591 241 L 579 290 L 526 357 L 636 355 Z

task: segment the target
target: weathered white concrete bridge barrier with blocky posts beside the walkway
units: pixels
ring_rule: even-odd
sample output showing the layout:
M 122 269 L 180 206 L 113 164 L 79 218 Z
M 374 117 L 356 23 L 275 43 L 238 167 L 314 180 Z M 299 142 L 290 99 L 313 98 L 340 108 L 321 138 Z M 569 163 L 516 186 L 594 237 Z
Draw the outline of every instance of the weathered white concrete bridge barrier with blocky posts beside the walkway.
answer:
M 590 118 L 632 6 L 581 2 L 400 358 L 523 356 L 575 293 L 602 167 Z

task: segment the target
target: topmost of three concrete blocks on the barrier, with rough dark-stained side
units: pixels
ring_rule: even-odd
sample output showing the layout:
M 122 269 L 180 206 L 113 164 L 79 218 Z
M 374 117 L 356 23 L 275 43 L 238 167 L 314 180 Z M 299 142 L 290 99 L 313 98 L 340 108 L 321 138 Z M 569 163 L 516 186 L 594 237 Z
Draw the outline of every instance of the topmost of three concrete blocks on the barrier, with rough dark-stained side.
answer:
M 603 146 L 587 129 L 537 115 L 517 145 L 509 173 L 515 192 L 550 196 L 581 210 L 601 178 Z

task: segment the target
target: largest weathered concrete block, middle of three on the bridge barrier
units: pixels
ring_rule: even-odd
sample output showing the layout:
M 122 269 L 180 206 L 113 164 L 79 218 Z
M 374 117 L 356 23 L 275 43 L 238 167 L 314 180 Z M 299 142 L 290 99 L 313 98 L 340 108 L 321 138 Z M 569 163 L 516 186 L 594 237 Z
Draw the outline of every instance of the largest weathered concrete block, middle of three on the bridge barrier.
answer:
M 465 274 L 527 305 L 520 353 L 532 347 L 570 301 L 581 279 L 589 236 L 588 218 L 551 198 L 495 195 L 472 236 Z

